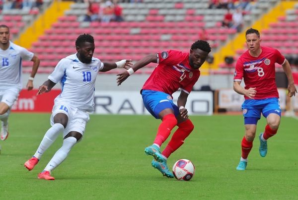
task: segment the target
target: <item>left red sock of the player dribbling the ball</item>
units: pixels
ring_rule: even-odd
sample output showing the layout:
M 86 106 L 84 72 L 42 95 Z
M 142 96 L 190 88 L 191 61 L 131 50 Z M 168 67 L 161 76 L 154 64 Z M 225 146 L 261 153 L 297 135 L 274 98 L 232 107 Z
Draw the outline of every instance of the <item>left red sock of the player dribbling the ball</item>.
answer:
M 177 125 L 177 119 L 174 114 L 167 114 L 162 118 L 162 122 L 158 127 L 157 134 L 153 143 L 161 144 L 171 134 L 171 130 Z

